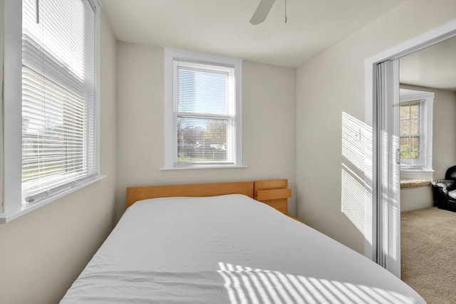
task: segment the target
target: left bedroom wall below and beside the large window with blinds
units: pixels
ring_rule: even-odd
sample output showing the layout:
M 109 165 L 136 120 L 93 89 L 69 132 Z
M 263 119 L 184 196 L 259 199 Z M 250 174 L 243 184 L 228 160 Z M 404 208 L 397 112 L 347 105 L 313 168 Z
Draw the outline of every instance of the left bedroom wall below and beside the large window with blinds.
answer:
M 58 303 L 113 228 L 116 48 L 102 20 L 100 165 L 107 177 L 0 225 L 0 303 Z

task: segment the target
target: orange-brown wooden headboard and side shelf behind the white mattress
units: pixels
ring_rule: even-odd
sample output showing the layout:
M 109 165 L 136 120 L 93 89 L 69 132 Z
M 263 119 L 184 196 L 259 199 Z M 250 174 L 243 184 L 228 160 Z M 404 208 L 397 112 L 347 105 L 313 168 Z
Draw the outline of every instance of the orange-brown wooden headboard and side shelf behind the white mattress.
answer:
M 154 199 L 170 196 L 216 196 L 223 194 L 244 194 L 261 201 L 287 216 L 288 199 L 291 189 L 288 179 L 266 179 L 252 182 L 223 182 L 210 184 L 175 184 L 167 186 L 127 187 L 126 207 L 142 199 Z M 300 219 L 296 219 L 301 221 Z M 301 221 L 304 223 L 303 221 Z

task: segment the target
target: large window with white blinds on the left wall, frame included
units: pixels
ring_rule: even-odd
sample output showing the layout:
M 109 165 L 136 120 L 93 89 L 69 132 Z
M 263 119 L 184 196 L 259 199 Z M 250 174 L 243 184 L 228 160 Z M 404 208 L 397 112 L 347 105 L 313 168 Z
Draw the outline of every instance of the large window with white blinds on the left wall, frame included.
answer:
M 13 62 L 5 65 L 11 71 L 8 81 L 19 90 L 9 90 L 4 100 L 5 127 L 11 128 L 11 136 L 5 136 L 5 160 L 11 164 L 5 165 L 4 180 L 9 184 L 4 216 L 99 178 L 95 88 L 99 4 L 14 2 L 6 2 L 5 10 L 22 18 L 5 19 L 5 39 L 13 41 L 11 51 L 16 48 L 21 56 L 5 52 L 5 61 Z M 5 75 L 10 78 L 10 73 Z M 21 100 L 19 106 L 12 105 L 14 100 Z

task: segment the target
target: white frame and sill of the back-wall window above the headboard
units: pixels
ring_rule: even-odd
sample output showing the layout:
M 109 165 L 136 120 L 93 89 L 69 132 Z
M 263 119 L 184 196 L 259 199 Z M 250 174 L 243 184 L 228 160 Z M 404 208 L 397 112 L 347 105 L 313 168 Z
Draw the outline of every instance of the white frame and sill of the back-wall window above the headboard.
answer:
M 177 164 L 177 130 L 175 130 L 175 59 L 212 63 L 215 65 L 234 66 L 235 77 L 235 157 L 233 164 Z M 209 168 L 238 168 L 242 164 L 242 59 L 216 56 L 207 53 L 184 51 L 175 48 L 165 48 L 165 166 L 167 169 L 209 169 Z

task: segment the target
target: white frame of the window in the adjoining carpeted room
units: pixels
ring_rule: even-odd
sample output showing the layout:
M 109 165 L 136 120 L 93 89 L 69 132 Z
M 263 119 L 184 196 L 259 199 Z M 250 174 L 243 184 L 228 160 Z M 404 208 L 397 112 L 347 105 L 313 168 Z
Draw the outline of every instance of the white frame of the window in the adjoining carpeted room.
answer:
M 434 108 L 432 92 L 400 89 L 400 104 L 420 102 L 420 151 L 418 163 L 400 162 L 401 179 L 432 179 L 432 112 Z

